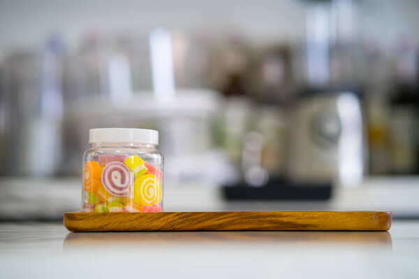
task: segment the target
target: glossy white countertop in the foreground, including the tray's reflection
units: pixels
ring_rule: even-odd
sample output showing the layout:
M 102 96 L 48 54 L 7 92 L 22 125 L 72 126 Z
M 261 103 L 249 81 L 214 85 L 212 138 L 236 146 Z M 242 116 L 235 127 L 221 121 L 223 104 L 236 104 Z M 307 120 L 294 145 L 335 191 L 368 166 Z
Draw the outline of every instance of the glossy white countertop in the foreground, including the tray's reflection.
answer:
M 70 233 L 0 223 L 0 278 L 419 278 L 419 221 L 389 232 Z

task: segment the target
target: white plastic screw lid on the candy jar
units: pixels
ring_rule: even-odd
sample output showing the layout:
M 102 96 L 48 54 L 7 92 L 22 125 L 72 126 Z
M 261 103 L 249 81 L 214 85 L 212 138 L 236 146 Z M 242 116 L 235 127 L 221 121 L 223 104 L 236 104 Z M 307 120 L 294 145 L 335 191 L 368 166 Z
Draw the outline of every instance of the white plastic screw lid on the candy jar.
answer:
M 149 129 L 97 128 L 89 130 L 89 144 L 94 142 L 133 142 L 159 144 L 159 132 Z

